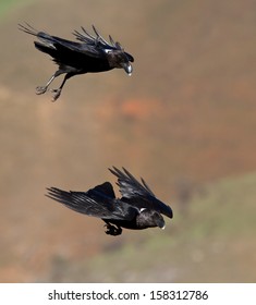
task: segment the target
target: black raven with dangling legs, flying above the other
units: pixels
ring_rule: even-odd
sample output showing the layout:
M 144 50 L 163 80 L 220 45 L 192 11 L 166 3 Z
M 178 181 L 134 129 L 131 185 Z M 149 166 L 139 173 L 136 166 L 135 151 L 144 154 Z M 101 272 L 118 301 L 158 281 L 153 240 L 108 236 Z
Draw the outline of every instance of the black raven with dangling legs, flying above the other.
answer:
M 110 42 L 106 41 L 93 25 L 96 36 L 90 35 L 82 27 L 82 33 L 75 30 L 73 34 L 81 42 L 70 41 L 57 36 L 51 36 L 45 32 L 37 32 L 31 25 L 19 24 L 20 29 L 36 36 L 40 41 L 35 41 L 35 47 L 52 57 L 53 61 L 59 65 L 59 70 L 50 77 L 45 86 L 38 86 L 36 94 L 45 94 L 52 81 L 63 74 L 63 82 L 58 89 L 51 89 L 53 93 L 52 101 L 60 97 L 61 90 L 65 82 L 77 74 L 88 72 L 103 72 L 114 68 L 122 68 L 131 75 L 133 68 L 131 62 L 133 57 L 124 51 L 119 42 L 115 42 L 109 35 Z

